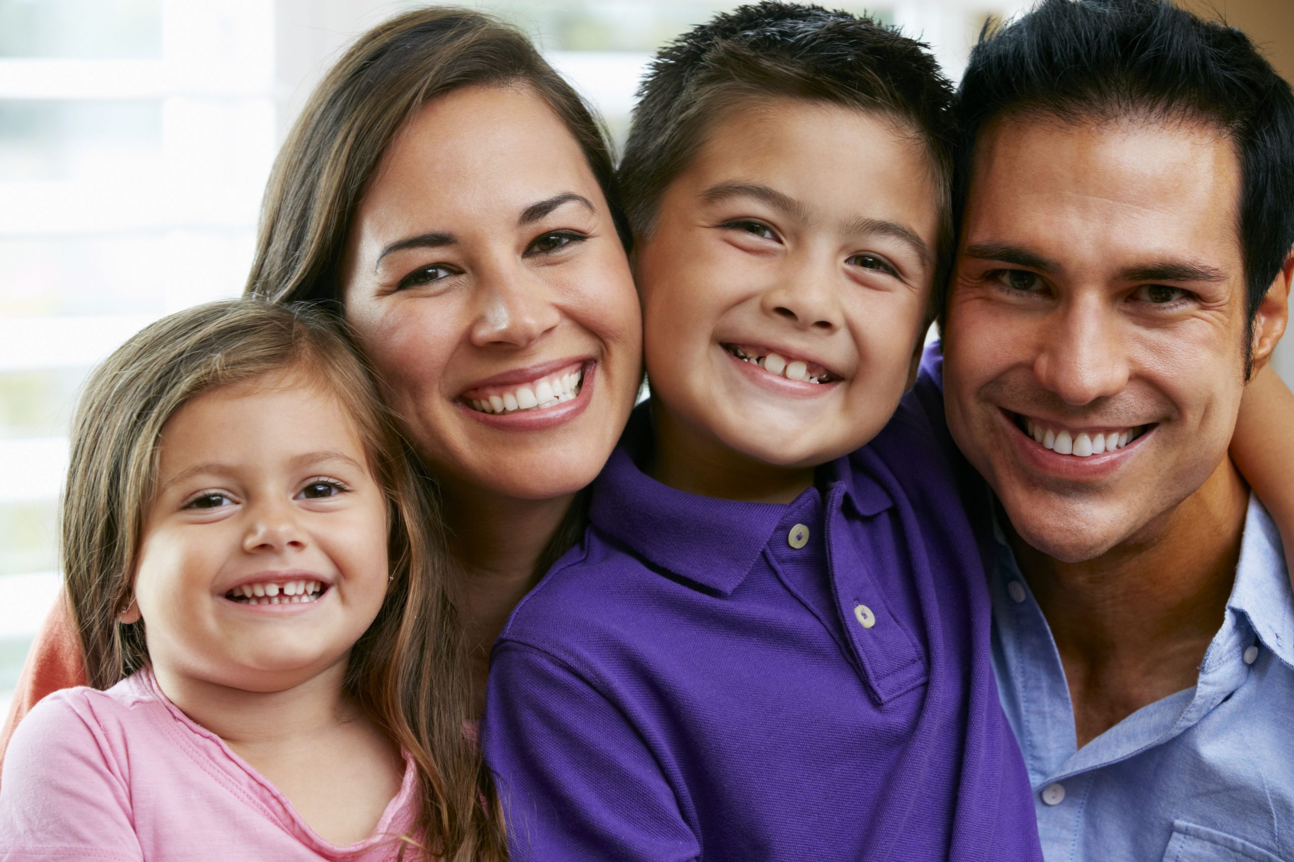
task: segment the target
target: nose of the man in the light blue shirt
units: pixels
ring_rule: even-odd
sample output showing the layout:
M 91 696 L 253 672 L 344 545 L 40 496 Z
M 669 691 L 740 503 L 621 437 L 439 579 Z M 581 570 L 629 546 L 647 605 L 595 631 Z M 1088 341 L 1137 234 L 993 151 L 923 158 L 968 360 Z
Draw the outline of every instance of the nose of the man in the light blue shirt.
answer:
M 1128 359 L 1115 311 L 1092 296 L 1062 305 L 1052 317 L 1052 326 L 1039 333 L 1038 381 L 1074 406 L 1122 392 Z

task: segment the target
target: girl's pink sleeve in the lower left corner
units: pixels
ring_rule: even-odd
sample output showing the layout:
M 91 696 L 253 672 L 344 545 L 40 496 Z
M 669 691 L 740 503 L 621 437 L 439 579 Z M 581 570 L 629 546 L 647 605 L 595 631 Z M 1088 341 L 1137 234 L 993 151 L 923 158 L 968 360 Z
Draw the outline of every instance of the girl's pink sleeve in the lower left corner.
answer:
M 144 858 L 127 777 L 85 690 L 38 704 L 13 734 L 0 782 L 0 861 Z

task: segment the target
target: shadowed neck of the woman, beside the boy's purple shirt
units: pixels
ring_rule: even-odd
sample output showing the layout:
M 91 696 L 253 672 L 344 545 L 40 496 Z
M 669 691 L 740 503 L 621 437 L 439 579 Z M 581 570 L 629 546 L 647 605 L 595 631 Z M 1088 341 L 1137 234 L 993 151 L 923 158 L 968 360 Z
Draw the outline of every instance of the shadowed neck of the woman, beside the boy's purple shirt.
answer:
M 540 560 L 576 495 L 520 500 L 479 489 L 443 487 L 455 600 L 471 658 L 474 715 L 485 707 L 489 651 L 509 615 L 543 574 Z

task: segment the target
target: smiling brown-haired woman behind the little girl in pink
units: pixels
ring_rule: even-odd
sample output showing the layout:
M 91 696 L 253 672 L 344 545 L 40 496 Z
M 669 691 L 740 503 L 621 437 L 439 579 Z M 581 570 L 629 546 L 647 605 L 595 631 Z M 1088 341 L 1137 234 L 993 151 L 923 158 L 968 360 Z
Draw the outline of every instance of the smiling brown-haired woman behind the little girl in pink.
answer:
M 494 636 L 575 540 L 633 407 L 626 238 L 589 107 L 525 36 L 459 9 L 361 36 L 270 174 L 246 292 L 343 314 L 383 379 L 443 498 L 476 716 Z M 40 697 L 84 684 L 79 644 L 60 602 L 0 753 Z

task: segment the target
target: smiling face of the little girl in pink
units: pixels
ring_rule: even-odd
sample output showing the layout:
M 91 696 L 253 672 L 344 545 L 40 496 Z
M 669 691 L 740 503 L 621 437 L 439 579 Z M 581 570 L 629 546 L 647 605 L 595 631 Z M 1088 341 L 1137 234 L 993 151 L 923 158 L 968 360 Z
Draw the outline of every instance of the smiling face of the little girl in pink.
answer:
M 142 616 L 162 677 L 291 688 L 344 662 L 377 616 L 386 536 L 334 397 L 299 375 L 215 389 L 163 429 L 126 620 Z

